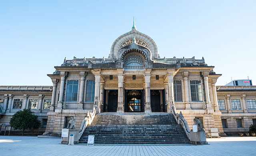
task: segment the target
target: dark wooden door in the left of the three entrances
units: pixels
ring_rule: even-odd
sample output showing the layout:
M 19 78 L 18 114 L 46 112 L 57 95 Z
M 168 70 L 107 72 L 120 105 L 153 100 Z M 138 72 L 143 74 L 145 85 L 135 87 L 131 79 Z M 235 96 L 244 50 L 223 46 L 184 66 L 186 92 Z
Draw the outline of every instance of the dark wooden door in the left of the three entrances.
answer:
M 118 91 L 110 90 L 108 92 L 108 112 L 116 112 L 118 104 Z

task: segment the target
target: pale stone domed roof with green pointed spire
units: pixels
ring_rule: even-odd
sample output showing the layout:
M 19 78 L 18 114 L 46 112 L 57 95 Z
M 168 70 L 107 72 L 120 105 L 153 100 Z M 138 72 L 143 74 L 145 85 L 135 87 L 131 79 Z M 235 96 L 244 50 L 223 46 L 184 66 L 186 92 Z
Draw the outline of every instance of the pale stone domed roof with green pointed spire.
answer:
M 160 58 L 156 43 L 148 35 L 137 31 L 135 21 L 132 26 L 132 30 L 119 36 L 111 46 L 109 58 L 117 58 L 118 50 L 124 46 L 132 44 L 133 37 L 136 39 L 136 43 L 148 48 L 152 54 L 152 58 Z

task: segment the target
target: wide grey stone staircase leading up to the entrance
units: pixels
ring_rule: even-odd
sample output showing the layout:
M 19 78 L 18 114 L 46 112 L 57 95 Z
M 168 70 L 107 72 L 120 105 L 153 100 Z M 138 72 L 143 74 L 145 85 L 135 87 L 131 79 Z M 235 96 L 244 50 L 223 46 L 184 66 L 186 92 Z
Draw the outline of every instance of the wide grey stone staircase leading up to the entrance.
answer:
M 168 113 L 100 113 L 87 126 L 79 143 L 87 144 L 188 144 L 182 126 Z

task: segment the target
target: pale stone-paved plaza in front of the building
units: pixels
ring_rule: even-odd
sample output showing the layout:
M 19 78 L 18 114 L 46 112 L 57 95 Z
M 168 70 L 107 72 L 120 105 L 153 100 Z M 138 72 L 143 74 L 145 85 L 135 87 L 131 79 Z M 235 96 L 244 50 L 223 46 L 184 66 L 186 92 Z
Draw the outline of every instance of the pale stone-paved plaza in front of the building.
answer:
M 201 146 L 68 146 L 59 138 L 0 136 L 0 156 L 255 156 L 256 137 L 208 138 Z

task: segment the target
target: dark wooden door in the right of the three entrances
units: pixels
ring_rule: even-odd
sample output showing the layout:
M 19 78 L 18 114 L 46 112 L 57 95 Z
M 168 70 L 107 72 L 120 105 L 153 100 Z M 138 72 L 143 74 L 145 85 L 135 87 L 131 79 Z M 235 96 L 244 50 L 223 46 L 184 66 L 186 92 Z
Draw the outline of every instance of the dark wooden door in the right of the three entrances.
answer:
M 152 112 L 160 112 L 160 92 L 159 90 L 150 90 L 150 104 Z

